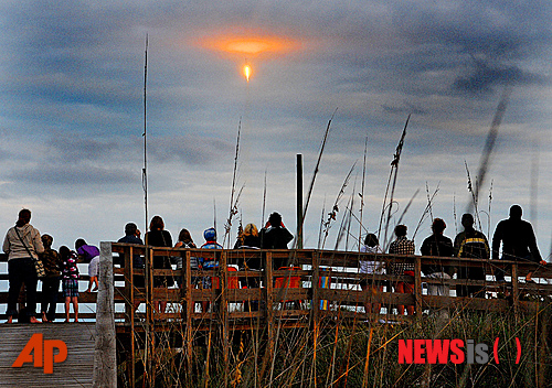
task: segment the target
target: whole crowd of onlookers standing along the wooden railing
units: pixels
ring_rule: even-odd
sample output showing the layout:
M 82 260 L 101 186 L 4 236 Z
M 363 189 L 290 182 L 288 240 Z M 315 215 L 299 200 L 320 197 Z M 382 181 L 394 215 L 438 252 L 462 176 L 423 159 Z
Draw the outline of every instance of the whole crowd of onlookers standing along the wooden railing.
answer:
M 530 223 L 521 219 L 522 209 L 519 205 L 513 205 L 510 208 L 509 218 L 501 220 L 495 230 L 492 237 L 492 247 L 489 247 L 487 237 L 479 230 L 474 228 L 474 216 L 464 214 L 461 225 L 464 230 L 459 233 L 454 242 L 450 238 L 444 235 L 446 224 L 442 218 L 434 218 L 432 223 L 432 235 L 424 239 L 421 246 L 423 256 L 429 257 L 457 257 L 466 259 L 478 259 L 476 265 L 465 267 L 452 267 L 439 265 L 438 260 L 434 263 L 422 266 L 422 272 L 431 281 L 427 285 L 427 293 L 431 295 L 449 295 L 449 287 L 445 283 L 439 283 L 439 280 L 453 279 L 469 279 L 484 281 L 487 276 L 485 260 L 514 260 L 537 262 L 542 266 L 546 265 L 539 252 L 537 239 L 533 228 Z M 74 250 L 66 246 L 60 247 L 59 252 L 52 249 L 52 236 L 44 234 L 40 235 L 31 224 L 31 212 L 22 209 L 19 212 L 15 226 L 11 227 L 3 241 L 3 251 L 8 255 L 8 273 L 9 273 L 9 295 L 7 309 L 7 323 L 12 323 L 13 317 L 18 316 L 19 322 L 39 323 L 36 319 L 38 281 L 42 281 L 42 300 L 41 300 L 41 319 L 42 322 L 53 322 L 55 320 L 55 309 L 59 298 L 60 283 L 62 287 L 62 295 L 65 303 L 65 322 L 70 322 L 70 308 L 73 305 L 74 322 L 78 322 L 78 279 L 79 271 L 77 263 L 87 263 L 88 266 L 88 288 L 86 292 L 93 292 L 98 289 L 98 263 L 99 249 L 96 246 L 88 245 L 82 238 L 75 241 Z M 393 255 L 414 255 L 414 241 L 408 239 L 407 227 L 405 225 L 396 225 L 394 228 L 395 239 L 390 244 L 388 252 Z M 203 233 L 203 242 L 201 249 L 223 249 L 216 240 L 216 230 L 214 227 L 208 228 Z M 254 224 L 246 224 L 245 227 L 240 227 L 237 240 L 234 244 L 234 249 L 287 249 L 288 244 L 294 239 L 294 235 L 284 226 L 282 216 L 278 213 L 270 214 L 266 225 L 258 230 Z M 151 218 L 149 230 L 145 235 L 145 241 L 141 239 L 141 233 L 137 225 L 128 223 L 125 226 L 125 236 L 118 242 L 147 245 L 152 247 L 170 247 L 170 248 L 198 248 L 194 244 L 190 231 L 185 228 L 181 229 L 178 235 L 178 240 L 173 244 L 171 234 L 164 229 L 163 219 L 160 216 Z M 378 236 L 369 233 L 365 236 L 364 245 L 360 251 L 369 254 L 383 254 L 384 250 L 380 246 Z M 501 251 L 501 256 L 499 255 Z M 369 256 L 362 257 L 359 261 L 359 272 L 363 274 L 360 287 L 364 292 L 376 294 L 383 291 L 385 282 L 378 280 L 373 274 L 395 274 L 402 276 L 404 281 L 385 284 L 388 291 L 391 288 L 397 293 L 412 293 L 414 291 L 414 265 L 412 262 L 388 262 L 367 260 Z M 123 262 L 119 261 L 119 265 Z M 144 268 L 144 258 L 140 255 L 132 256 L 132 267 L 137 269 Z M 182 257 L 153 256 L 153 269 L 171 269 L 176 265 L 177 269 L 183 268 Z M 285 268 L 287 262 L 285 259 L 275 259 L 273 269 Z M 240 270 L 263 271 L 263 262 L 259 257 L 253 259 L 243 259 L 237 263 Z M 211 289 L 213 288 L 213 276 L 209 276 L 209 271 L 214 271 L 219 267 L 216 255 L 212 257 L 191 257 L 190 269 L 201 270 L 201 277 L 192 278 L 192 287 Z M 497 281 L 505 281 L 505 272 L 500 269 L 492 273 Z M 526 276 L 526 282 L 534 282 L 532 273 Z M 156 276 L 152 279 L 153 287 L 172 287 L 174 281 L 179 287 L 183 285 L 181 278 L 172 278 L 168 276 Z M 259 279 L 255 277 L 245 277 L 243 285 L 247 288 L 259 288 Z M 26 302 L 23 309 L 18 311 L 18 300 L 24 284 Z M 144 276 L 134 277 L 134 285 L 138 288 L 145 287 Z M 456 288 L 458 297 L 486 298 L 485 287 L 477 285 L 458 285 Z M 137 309 L 139 303 L 135 303 Z M 164 312 L 167 302 L 158 301 L 153 305 L 156 312 Z M 250 306 L 257 309 L 258 305 Z M 206 312 L 209 309 L 208 302 L 202 302 L 201 309 Z M 365 303 L 367 312 L 379 313 L 381 305 Z M 414 314 L 414 305 L 399 305 L 397 313 L 403 315 L 406 310 L 408 315 Z

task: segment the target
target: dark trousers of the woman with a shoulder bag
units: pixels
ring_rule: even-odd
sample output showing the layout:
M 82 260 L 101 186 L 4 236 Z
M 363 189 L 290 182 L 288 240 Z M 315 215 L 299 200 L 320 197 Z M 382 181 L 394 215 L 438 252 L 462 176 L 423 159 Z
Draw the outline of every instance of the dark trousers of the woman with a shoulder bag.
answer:
M 36 269 L 30 257 L 8 260 L 8 279 L 10 290 L 8 291 L 8 311 L 6 315 L 18 315 L 18 299 L 21 284 L 25 283 L 26 290 L 26 315 L 36 315 Z

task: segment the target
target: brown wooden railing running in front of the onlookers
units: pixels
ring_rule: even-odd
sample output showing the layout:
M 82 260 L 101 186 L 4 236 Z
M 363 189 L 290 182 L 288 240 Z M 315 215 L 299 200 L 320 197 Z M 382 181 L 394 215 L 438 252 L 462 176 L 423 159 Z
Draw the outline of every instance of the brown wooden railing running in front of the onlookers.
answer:
M 320 251 L 320 250 L 205 250 L 205 249 L 174 249 L 153 248 L 128 244 L 113 244 L 112 249 L 115 262 L 124 263 L 114 266 L 115 279 L 115 319 L 119 326 L 134 325 L 140 322 L 166 322 L 181 321 L 199 327 L 206 327 L 210 320 L 217 322 L 240 321 L 234 327 L 241 327 L 245 319 L 266 320 L 268 327 L 277 319 L 287 319 L 288 324 L 299 325 L 302 317 L 319 320 L 325 316 L 351 317 L 365 320 L 367 314 L 363 309 L 364 303 L 380 303 L 383 309 L 382 314 L 391 315 L 394 321 L 411 320 L 412 317 L 397 316 L 391 314 L 394 306 L 414 305 L 415 316 L 421 316 L 427 309 L 468 309 L 485 311 L 507 311 L 513 309 L 518 311 L 531 311 L 535 309 L 539 299 L 549 298 L 552 294 L 552 284 L 548 279 L 552 278 L 552 265 L 542 267 L 531 262 L 505 261 L 505 260 L 471 260 L 458 258 L 438 258 L 422 256 L 396 256 L 396 255 L 374 255 L 344 251 Z M 145 269 L 132 268 L 132 258 L 141 256 L 148 266 Z M 174 261 L 182 258 L 183 270 L 153 269 L 151 258 L 166 257 Z M 219 261 L 219 268 L 214 271 L 187 271 L 190 268 L 191 258 L 212 258 Z M 263 271 L 236 271 L 238 262 L 259 259 L 263 263 Z M 363 274 L 359 273 L 359 260 L 373 260 L 390 263 L 410 262 L 414 263 L 415 276 L 393 276 L 393 274 Z M 0 256 L 0 261 L 7 261 L 6 256 Z M 288 267 L 295 269 L 273 269 L 274 262 L 286 262 Z M 490 279 L 496 269 L 503 269 L 511 281 L 498 283 L 493 280 L 440 280 L 424 277 L 421 271 L 422 265 L 435 265 L 453 267 L 479 267 L 485 268 L 487 278 Z M 82 268 L 83 269 L 83 268 Z M 540 280 L 537 284 L 519 281 L 527 272 L 534 272 L 533 278 Z M 82 272 L 86 272 L 82 271 Z M 132 278 L 144 277 L 145 288 L 137 288 Z M 153 277 L 167 277 L 170 285 L 168 288 L 155 288 Z M 363 292 L 358 285 L 363 278 L 372 281 L 381 281 L 386 284 L 384 291 L 378 294 Z M 181 287 L 178 288 L 176 280 L 181 278 Z M 192 285 L 192 279 L 213 278 L 215 288 L 202 289 Z M 493 278 L 493 277 L 492 277 Z M 245 288 L 246 279 L 255 279 L 261 288 Z M 326 281 L 326 287 L 320 282 Z M 0 273 L 0 280 L 8 280 L 8 273 Z M 414 292 L 412 294 L 391 292 L 393 284 L 397 281 L 414 281 Z M 81 276 L 81 282 L 87 283 L 88 277 Z M 285 287 L 296 283 L 297 288 Z M 7 283 L 7 282 L 6 282 Z M 216 284 L 219 283 L 219 284 Z M 329 285 L 328 285 L 329 283 Z M 486 298 L 459 298 L 453 294 L 448 297 L 428 295 L 424 292 L 423 284 L 448 285 L 452 291 L 457 285 L 480 285 L 485 289 Z M 85 288 L 84 285 L 81 288 Z M 506 292 L 505 292 L 506 291 Z M 507 293 L 509 298 L 499 298 Z M 39 304 L 41 295 L 39 292 Z M 8 292 L 0 292 L 0 303 L 6 305 Z M 78 298 L 79 303 L 95 303 L 96 293 L 82 292 Z M 153 302 L 168 302 L 164 313 L 153 311 Z M 315 309 L 320 306 L 323 309 Z M 134 304 L 140 302 L 141 308 L 137 311 Z M 200 309 L 201 303 L 208 302 L 213 308 L 208 311 Z M 59 303 L 63 299 L 59 298 Z M 247 306 L 259 306 L 248 309 Z M 146 306 L 146 309 L 144 308 Z M 245 308 L 245 309 L 244 309 Z M 38 306 L 39 309 L 39 306 Z M 0 311 L 0 319 L 6 317 L 6 310 Z M 62 314 L 57 314 L 62 317 Z M 95 313 L 82 309 L 82 319 L 94 319 Z M 295 320 L 295 322 L 293 322 Z M 305 320 L 307 321 L 307 320 Z

